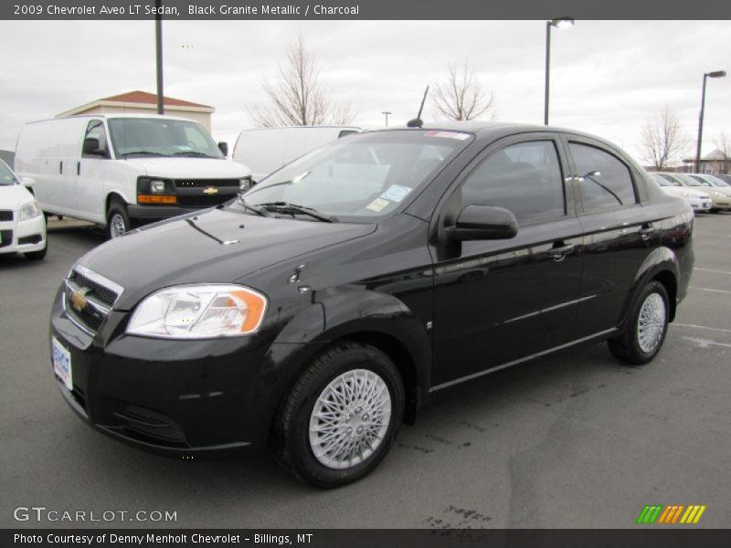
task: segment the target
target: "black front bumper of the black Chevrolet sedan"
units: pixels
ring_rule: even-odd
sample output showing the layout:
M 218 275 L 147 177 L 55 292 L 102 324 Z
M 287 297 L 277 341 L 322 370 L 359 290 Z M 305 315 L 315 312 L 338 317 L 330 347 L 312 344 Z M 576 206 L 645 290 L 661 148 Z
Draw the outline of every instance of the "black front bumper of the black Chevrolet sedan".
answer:
M 273 412 L 262 382 L 264 344 L 130 336 L 123 332 L 128 316 L 111 311 L 92 335 L 71 321 L 58 292 L 51 336 L 70 353 L 73 389 L 58 386 L 78 416 L 111 437 L 171 456 L 264 445 Z

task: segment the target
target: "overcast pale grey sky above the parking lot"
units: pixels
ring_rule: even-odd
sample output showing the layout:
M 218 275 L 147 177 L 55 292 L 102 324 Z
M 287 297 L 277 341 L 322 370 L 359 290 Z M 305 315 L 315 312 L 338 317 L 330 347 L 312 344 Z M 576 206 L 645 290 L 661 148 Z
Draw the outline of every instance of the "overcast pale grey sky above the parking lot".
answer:
M 638 155 L 641 127 L 668 105 L 693 154 L 704 72 L 731 73 L 728 21 L 577 21 L 554 30 L 551 123 Z M 302 32 L 355 124 L 416 115 L 427 84 L 467 59 L 493 90 L 496 119 L 543 122 L 544 21 L 164 21 L 165 95 L 214 106 L 213 133 L 251 127 L 285 48 Z M 0 21 L 0 148 L 26 121 L 129 90 L 155 92 L 153 21 Z M 425 120 L 434 120 L 427 107 Z M 731 136 L 731 77 L 709 79 L 704 154 Z

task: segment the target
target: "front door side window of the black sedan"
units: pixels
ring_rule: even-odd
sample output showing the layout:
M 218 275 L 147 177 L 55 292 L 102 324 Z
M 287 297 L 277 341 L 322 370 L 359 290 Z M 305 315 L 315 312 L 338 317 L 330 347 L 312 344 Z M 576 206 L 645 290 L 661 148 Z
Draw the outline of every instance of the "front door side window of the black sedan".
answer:
M 497 205 L 526 224 L 566 214 L 553 141 L 521 142 L 491 154 L 462 185 L 462 205 Z

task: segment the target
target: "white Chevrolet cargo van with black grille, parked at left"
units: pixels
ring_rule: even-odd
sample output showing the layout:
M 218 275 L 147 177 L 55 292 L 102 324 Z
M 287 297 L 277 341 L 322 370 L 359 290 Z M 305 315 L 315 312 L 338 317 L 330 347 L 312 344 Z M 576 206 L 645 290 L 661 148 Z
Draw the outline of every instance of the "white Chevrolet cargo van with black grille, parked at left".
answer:
M 36 181 L 44 212 L 104 225 L 109 237 L 222 204 L 251 184 L 249 168 L 227 162 L 203 126 L 172 116 L 100 114 L 28 123 L 15 165 L 17 174 Z

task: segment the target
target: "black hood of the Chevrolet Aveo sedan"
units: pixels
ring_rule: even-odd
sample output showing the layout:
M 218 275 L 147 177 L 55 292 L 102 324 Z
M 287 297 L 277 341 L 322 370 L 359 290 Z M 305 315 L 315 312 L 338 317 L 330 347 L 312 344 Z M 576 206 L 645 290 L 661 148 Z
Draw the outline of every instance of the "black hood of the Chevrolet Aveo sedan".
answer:
M 114 308 L 125 311 L 154 290 L 185 283 L 234 282 L 282 260 L 374 230 L 375 224 L 322 223 L 208 209 L 113 239 L 90 251 L 79 264 L 124 288 Z

